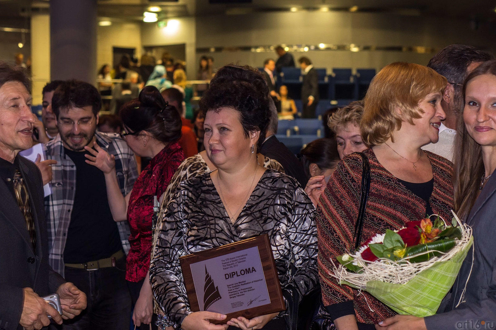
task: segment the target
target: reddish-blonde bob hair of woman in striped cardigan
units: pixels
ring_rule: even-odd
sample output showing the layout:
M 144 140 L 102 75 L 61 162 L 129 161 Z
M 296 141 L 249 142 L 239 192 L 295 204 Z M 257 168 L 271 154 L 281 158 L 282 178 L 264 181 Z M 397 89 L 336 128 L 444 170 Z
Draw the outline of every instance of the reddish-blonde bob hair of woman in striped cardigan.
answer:
M 372 79 L 365 96 L 360 131 L 370 146 L 384 143 L 402 122 L 413 125 L 424 111 L 419 102 L 430 93 L 442 92 L 445 77 L 427 66 L 395 62 Z

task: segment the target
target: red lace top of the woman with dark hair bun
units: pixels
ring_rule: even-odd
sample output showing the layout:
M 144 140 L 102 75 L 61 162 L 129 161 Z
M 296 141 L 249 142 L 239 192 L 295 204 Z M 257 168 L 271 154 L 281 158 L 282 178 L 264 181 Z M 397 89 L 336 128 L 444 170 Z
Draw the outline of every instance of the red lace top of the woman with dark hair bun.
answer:
M 132 187 L 127 207 L 131 230 L 131 248 L 127 254 L 125 273 L 128 281 L 139 282 L 148 272 L 152 249 L 153 196 L 160 198 L 184 159 L 183 149 L 178 143 L 168 144 L 153 157 Z

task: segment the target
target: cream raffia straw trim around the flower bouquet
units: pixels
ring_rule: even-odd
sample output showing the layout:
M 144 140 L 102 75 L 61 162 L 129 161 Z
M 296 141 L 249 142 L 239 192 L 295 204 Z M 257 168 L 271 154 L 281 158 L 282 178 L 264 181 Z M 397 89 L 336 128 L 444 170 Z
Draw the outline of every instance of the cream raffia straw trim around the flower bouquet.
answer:
M 456 214 L 454 214 L 456 221 L 459 223 L 460 230 L 462 232 L 461 239 L 455 239 L 455 246 L 446 253 L 438 252 L 441 255 L 437 257 L 433 257 L 425 262 L 420 263 L 410 263 L 406 259 L 399 260 L 397 262 L 391 261 L 386 258 L 380 258 L 374 262 L 364 260 L 359 253 L 352 255 L 351 257 L 355 259 L 355 262 L 358 265 L 363 266 L 363 272 L 354 273 L 348 271 L 348 269 L 339 264 L 336 266 L 332 260 L 331 263 L 333 265 L 334 273 L 330 274 L 335 277 L 338 283 L 343 284 L 343 281 L 348 282 L 352 286 L 360 289 L 367 288 L 367 282 L 369 281 L 380 281 L 384 283 L 393 283 L 393 284 L 405 284 L 410 281 L 415 275 L 420 273 L 421 271 L 431 267 L 436 262 L 448 261 L 453 256 L 455 256 L 458 252 L 460 252 L 463 248 L 470 244 L 470 238 L 472 237 L 472 228 L 466 224 L 462 224 L 458 219 Z M 443 220 L 444 221 L 444 220 Z M 416 254 L 414 256 L 410 256 L 408 258 L 414 258 L 417 256 L 423 256 L 428 253 L 434 252 L 433 250 L 426 251 L 423 253 Z M 347 284 L 348 284 L 347 283 Z

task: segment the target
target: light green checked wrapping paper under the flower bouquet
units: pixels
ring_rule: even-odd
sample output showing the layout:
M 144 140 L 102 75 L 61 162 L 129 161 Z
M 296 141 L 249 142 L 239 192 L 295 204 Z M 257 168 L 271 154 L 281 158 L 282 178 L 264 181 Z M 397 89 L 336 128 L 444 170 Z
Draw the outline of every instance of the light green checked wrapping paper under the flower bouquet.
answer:
M 366 291 L 398 314 L 417 317 L 434 315 L 455 282 L 473 240 L 471 237 L 469 244 L 450 260 L 434 263 L 405 284 L 369 281 Z M 344 280 L 341 284 L 360 289 Z

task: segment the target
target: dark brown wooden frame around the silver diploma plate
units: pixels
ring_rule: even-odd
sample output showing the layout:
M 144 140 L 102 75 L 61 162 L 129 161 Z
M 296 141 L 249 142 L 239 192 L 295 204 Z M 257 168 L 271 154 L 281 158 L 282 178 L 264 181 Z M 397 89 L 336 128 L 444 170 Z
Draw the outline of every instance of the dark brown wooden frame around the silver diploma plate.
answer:
M 256 316 L 281 312 L 286 309 L 284 297 L 281 290 L 281 283 L 279 282 L 279 276 L 277 274 L 277 268 L 274 261 L 274 255 L 272 254 L 272 247 L 270 246 L 269 242 L 269 236 L 267 234 L 263 234 L 260 236 L 248 238 L 243 241 L 226 244 L 218 248 L 196 252 L 179 258 L 189 300 L 189 307 L 192 312 L 200 311 L 200 306 L 198 304 L 196 289 L 194 287 L 193 276 L 191 274 L 191 268 L 189 265 L 227 255 L 233 252 L 242 251 L 255 246 L 258 247 L 258 253 L 260 255 L 260 261 L 265 277 L 265 283 L 267 285 L 267 291 L 269 293 L 270 303 L 234 313 L 224 313 L 227 315 L 227 318 L 224 321 L 210 320 L 210 322 L 214 324 L 225 324 L 232 318 L 237 318 L 240 316 L 243 316 L 249 320 Z

